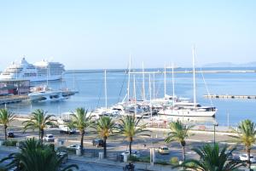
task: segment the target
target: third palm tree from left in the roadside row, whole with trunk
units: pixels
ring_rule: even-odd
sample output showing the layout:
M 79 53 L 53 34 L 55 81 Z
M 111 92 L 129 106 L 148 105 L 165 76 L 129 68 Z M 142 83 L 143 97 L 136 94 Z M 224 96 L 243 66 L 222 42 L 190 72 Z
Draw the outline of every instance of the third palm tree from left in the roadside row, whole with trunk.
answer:
M 90 114 L 88 114 L 87 110 L 84 110 L 84 107 L 80 107 L 76 109 L 76 112 L 72 115 L 72 121 L 70 126 L 73 128 L 79 129 L 81 140 L 80 140 L 80 150 L 81 154 L 84 154 L 84 134 L 85 129 L 89 128 L 92 125 L 92 120 Z

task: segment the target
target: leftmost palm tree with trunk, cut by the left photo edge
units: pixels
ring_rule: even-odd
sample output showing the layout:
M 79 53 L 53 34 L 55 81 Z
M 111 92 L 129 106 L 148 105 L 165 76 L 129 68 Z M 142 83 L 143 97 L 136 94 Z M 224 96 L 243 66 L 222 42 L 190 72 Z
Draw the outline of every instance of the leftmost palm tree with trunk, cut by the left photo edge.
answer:
M 15 114 L 7 109 L 0 109 L 0 123 L 3 124 L 4 140 L 7 140 L 7 128 L 9 123 L 15 120 Z

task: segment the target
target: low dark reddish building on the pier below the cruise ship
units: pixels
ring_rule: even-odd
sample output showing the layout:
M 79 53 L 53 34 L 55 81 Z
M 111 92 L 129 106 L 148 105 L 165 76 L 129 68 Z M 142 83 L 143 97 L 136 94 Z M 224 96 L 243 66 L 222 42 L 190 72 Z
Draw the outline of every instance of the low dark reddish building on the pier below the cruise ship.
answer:
M 29 94 L 29 80 L 0 80 L 0 96 Z

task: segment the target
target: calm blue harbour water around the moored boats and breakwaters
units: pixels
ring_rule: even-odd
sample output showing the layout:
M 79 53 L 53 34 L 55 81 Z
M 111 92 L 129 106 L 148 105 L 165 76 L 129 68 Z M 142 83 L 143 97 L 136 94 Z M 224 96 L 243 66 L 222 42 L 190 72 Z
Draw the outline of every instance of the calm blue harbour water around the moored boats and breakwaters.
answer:
M 224 68 L 208 68 L 207 70 L 224 70 Z M 225 68 L 225 70 L 255 70 L 255 68 Z M 205 73 L 203 77 L 207 86 L 202 75 L 196 74 L 196 98 L 202 105 L 211 105 L 211 101 L 203 97 L 203 94 L 207 94 L 207 88 L 210 94 L 256 94 L 256 72 Z M 125 71 L 108 71 L 108 105 L 113 105 L 125 97 L 127 78 Z M 132 76 L 131 80 L 131 92 L 133 92 Z M 136 75 L 137 99 L 142 99 L 142 82 L 142 75 Z M 38 84 L 45 83 L 34 83 L 34 85 Z M 151 86 L 152 97 L 163 97 L 164 75 L 151 75 Z M 86 71 L 86 73 L 83 71 L 67 71 L 62 81 L 49 82 L 49 87 L 75 88 L 79 90 L 79 94 L 58 102 L 38 102 L 31 104 L 27 101 L 9 104 L 7 107 L 21 114 L 29 113 L 31 110 L 40 108 L 58 115 L 61 112 L 74 111 L 77 107 L 84 106 L 88 109 L 94 109 L 105 105 L 103 71 Z M 145 75 L 145 87 L 146 97 L 149 99 L 148 74 Z M 172 74 L 170 73 L 166 75 L 166 93 L 172 95 Z M 193 98 L 193 78 L 191 73 L 175 74 L 175 94 L 177 96 Z M 132 96 L 132 93 L 130 96 Z M 218 108 L 216 120 L 220 125 L 228 125 L 228 123 L 234 125 L 246 118 L 256 122 L 256 100 L 213 99 L 212 104 Z

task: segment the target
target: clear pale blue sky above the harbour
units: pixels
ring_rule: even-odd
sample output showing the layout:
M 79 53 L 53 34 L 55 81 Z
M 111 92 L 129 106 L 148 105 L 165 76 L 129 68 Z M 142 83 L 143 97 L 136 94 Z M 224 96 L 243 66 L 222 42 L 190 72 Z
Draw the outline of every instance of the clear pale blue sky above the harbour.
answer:
M 0 0 L 0 70 L 23 56 L 66 69 L 256 60 L 256 1 Z

